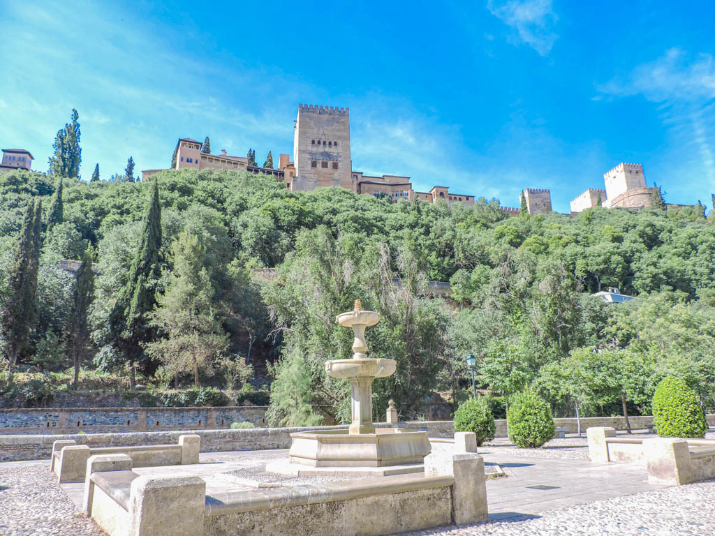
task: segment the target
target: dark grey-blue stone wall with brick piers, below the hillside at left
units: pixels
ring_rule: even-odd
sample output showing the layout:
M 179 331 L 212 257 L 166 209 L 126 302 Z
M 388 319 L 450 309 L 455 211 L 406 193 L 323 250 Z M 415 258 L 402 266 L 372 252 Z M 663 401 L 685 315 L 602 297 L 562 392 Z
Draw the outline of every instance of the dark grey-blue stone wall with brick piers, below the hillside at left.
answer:
M 232 422 L 265 425 L 267 406 L 70 407 L 0 410 L 0 434 L 71 434 L 202 430 Z

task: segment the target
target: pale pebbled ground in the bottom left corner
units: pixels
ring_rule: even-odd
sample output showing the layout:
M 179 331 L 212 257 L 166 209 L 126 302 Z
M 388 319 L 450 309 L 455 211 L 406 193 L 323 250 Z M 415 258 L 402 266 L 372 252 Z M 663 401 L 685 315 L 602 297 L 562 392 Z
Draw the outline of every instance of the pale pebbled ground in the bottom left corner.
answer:
M 0 468 L 0 535 L 106 536 L 75 512 L 44 463 Z

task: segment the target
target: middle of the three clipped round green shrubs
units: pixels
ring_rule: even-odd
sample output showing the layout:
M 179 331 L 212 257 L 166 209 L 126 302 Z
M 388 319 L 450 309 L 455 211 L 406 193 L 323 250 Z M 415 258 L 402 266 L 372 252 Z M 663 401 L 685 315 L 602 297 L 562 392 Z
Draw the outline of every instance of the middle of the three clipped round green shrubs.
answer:
M 509 439 L 521 449 L 541 447 L 556 432 L 551 407 L 531 390 L 517 394 L 506 412 Z

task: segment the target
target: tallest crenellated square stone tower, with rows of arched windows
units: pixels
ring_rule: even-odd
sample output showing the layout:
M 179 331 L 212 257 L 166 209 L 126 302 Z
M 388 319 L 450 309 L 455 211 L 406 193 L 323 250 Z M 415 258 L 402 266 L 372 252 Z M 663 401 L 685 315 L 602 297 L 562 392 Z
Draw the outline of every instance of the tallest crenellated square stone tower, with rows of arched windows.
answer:
M 332 106 L 298 105 L 293 137 L 292 189 L 326 186 L 355 191 L 350 163 L 350 111 Z

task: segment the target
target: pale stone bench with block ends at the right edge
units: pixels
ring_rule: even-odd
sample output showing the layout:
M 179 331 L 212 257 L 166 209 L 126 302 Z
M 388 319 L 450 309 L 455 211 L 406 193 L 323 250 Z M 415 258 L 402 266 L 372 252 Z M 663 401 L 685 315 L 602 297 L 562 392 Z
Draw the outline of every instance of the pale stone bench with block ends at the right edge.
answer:
M 715 441 L 677 437 L 616 437 L 616 430 L 586 430 L 591 462 L 645 465 L 649 482 L 679 485 L 715 477 Z

